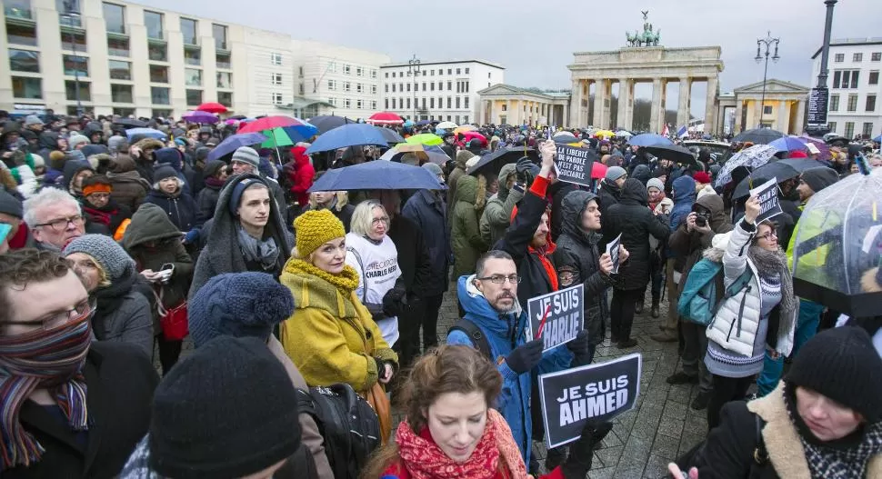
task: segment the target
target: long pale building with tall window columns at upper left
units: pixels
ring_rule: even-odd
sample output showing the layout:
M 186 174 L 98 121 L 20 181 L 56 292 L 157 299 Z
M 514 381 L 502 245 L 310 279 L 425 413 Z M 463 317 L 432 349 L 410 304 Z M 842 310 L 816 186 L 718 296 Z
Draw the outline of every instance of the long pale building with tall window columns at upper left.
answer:
M 367 116 L 389 61 L 356 49 L 102 0 L 2 0 L 0 109 L 180 116 L 204 102 L 240 115 Z M 352 68 L 352 95 L 312 88 L 318 61 Z M 317 64 L 316 64 L 317 65 Z M 357 70 L 356 70 L 357 69 Z M 356 71 L 373 82 L 356 82 Z M 322 72 L 324 73 L 324 72 Z M 316 76 L 317 75 L 317 76 Z M 361 86 L 357 86 L 361 85 Z M 339 98 L 339 99 L 337 99 Z M 339 108 L 335 102 L 341 105 Z M 351 105 L 345 107 L 346 104 Z M 375 108 L 376 110 L 376 108 Z

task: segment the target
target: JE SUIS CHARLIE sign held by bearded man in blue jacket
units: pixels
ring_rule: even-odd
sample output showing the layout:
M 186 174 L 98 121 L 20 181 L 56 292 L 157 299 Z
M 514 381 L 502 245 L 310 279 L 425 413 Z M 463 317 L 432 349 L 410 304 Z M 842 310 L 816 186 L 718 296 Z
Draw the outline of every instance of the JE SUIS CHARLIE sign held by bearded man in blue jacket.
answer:
M 585 329 L 585 287 L 583 284 L 530 298 L 526 304 L 527 335 L 542 337 L 547 351 L 576 339 Z

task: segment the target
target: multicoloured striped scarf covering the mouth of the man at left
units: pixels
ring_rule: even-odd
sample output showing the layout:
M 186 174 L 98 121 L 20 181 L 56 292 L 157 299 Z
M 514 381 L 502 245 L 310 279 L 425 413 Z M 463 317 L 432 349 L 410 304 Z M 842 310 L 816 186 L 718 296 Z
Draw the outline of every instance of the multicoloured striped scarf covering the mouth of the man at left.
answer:
M 25 431 L 18 414 L 28 396 L 47 388 L 74 431 L 85 431 L 83 365 L 91 342 L 90 314 L 50 331 L 0 336 L 0 471 L 40 460 L 45 448 Z

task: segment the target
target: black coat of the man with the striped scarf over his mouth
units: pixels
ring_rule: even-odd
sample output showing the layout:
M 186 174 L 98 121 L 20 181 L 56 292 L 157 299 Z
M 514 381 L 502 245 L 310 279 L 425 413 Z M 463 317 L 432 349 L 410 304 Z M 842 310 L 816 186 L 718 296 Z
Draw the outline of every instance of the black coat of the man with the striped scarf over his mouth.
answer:
M 130 344 L 93 342 L 83 367 L 86 406 L 94 423 L 85 446 L 43 406 L 25 401 L 19 419 L 45 448 L 30 467 L 3 471 L 3 479 L 104 479 L 123 469 L 150 425 L 150 403 L 159 377 L 150 360 Z

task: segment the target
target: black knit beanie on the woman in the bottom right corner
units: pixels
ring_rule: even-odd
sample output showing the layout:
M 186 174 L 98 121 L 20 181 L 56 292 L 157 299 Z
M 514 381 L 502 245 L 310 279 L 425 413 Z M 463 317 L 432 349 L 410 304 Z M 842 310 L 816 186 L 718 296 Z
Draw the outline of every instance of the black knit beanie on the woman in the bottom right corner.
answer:
M 824 394 L 869 423 L 882 419 L 882 358 L 863 328 L 815 334 L 799 349 L 785 380 Z

